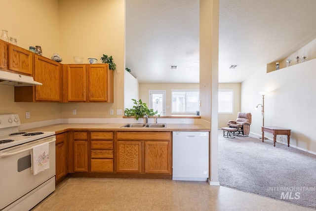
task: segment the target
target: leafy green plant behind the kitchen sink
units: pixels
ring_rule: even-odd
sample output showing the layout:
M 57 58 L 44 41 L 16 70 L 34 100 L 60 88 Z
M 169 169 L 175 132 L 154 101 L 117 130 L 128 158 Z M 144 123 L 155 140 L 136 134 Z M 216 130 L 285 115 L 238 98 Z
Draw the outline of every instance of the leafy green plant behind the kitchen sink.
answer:
M 154 112 L 154 109 L 149 109 L 147 104 L 143 103 L 141 99 L 139 101 L 132 99 L 132 101 L 134 101 L 135 105 L 131 109 L 125 109 L 125 116 L 134 116 L 136 120 L 138 120 L 139 118 L 143 118 L 145 116 L 155 116 L 158 114 L 158 111 Z

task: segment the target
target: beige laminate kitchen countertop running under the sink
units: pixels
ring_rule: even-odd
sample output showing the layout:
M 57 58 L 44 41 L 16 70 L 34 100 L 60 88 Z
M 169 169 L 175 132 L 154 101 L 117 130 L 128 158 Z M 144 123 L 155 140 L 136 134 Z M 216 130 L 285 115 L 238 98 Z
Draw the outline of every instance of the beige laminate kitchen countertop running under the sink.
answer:
M 56 124 L 44 127 L 35 127 L 25 131 L 54 131 L 56 134 L 69 130 L 116 130 L 116 131 L 210 131 L 200 124 L 165 124 L 166 127 L 122 127 L 126 123 L 82 123 Z

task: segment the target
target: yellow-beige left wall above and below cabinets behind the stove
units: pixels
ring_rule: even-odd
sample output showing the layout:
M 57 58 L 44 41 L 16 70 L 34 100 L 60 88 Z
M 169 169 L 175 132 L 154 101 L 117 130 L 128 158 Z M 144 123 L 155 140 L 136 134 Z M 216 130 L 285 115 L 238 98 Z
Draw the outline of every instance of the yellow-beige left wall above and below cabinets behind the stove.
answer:
M 40 45 L 43 56 L 59 53 L 58 0 L 1 0 L 0 29 L 25 49 Z M 0 32 L 1 33 L 1 32 Z M 26 119 L 25 112 L 31 113 Z M 59 119 L 60 103 L 14 102 L 14 87 L 0 85 L 0 114 L 18 114 L 21 123 Z

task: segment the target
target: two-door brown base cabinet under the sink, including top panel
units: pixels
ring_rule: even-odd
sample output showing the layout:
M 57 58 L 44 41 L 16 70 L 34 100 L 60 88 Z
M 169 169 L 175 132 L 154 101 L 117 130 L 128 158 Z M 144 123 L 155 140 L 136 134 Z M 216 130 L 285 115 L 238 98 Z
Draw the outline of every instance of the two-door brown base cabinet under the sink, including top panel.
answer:
M 171 175 L 171 132 L 118 131 L 117 172 Z

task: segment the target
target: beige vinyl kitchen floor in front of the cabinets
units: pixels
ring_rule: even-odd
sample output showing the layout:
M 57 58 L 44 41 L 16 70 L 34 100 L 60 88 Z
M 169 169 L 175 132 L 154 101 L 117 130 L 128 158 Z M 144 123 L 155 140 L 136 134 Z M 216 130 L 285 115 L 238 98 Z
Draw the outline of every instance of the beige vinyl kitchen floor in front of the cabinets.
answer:
M 207 182 L 66 178 L 32 211 L 310 211 Z

